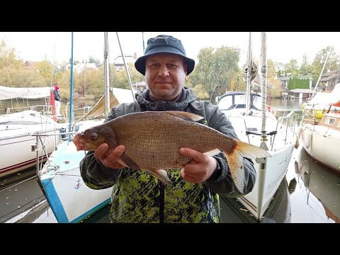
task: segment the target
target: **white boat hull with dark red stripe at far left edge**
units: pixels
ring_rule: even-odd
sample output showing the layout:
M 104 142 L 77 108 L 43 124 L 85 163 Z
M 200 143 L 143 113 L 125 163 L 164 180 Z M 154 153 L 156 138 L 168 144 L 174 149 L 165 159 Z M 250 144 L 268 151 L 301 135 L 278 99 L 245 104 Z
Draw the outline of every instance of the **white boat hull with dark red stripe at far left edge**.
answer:
M 23 124 L 11 124 L 16 121 Z M 25 124 L 28 122 L 38 124 Z M 59 123 L 52 120 L 49 120 L 47 124 L 44 122 L 40 113 L 35 111 L 0 116 L 0 178 L 28 169 L 36 164 L 36 153 L 30 151 L 30 145 L 34 145 L 36 142 L 36 138 L 31 136 L 33 132 L 51 134 L 62 130 L 62 125 Z M 41 146 L 38 147 L 38 152 L 40 159 L 45 160 L 46 154 L 51 154 L 62 138 L 61 135 L 55 135 L 43 139 L 45 152 Z

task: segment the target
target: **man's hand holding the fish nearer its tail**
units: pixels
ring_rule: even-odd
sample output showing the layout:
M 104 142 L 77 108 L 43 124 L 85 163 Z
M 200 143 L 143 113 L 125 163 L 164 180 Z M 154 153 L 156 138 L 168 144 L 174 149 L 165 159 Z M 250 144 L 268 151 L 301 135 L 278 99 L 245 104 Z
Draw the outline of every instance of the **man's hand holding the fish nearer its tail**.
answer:
M 188 182 L 201 183 L 207 181 L 217 167 L 217 162 L 213 157 L 196 150 L 181 148 L 179 153 L 193 159 L 193 163 L 185 164 L 181 169 L 181 176 Z

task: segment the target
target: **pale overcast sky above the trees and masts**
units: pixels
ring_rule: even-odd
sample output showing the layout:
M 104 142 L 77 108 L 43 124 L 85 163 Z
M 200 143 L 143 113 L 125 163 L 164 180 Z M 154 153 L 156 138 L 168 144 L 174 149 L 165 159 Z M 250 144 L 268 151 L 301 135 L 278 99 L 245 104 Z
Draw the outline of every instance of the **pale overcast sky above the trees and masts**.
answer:
M 16 49 L 23 61 L 42 61 L 47 57 L 51 62 L 68 61 L 71 57 L 71 32 L 0 32 L 0 40 L 8 47 Z M 157 35 L 174 35 L 186 48 L 186 55 L 198 60 L 203 47 L 232 46 L 241 50 L 239 66 L 246 62 L 249 43 L 248 32 L 119 32 L 120 44 L 125 55 L 143 52 L 147 39 Z M 253 32 L 253 55 L 259 58 L 260 32 Z M 267 32 L 267 58 L 285 64 L 291 59 L 300 64 L 307 55 L 312 62 L 314 56 L 327 46 L 340 52 L 340 32 Z M 120 47 L 115 32 L 108 33 L 110 62 L 120 55 Z M 89 57 L 103 62 L 103 32 L 74 32 L 74 60 L 88 60 Z

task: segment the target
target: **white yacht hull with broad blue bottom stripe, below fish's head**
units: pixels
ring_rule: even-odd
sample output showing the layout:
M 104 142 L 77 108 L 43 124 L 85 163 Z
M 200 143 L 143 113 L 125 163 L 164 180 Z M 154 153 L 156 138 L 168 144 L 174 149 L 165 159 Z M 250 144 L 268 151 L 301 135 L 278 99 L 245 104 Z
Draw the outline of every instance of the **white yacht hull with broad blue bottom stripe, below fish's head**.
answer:
M 88 120 L 85 124 L 89 128 L 102 122 Z M 59 223 L 81 222 L 111 202 L 111 188 L 91 189 L 81 179 L 79 163 L 84 156 L 84 151 L 77 152 L 74 143 L 66 140 L 38 171 L 38 183 Z

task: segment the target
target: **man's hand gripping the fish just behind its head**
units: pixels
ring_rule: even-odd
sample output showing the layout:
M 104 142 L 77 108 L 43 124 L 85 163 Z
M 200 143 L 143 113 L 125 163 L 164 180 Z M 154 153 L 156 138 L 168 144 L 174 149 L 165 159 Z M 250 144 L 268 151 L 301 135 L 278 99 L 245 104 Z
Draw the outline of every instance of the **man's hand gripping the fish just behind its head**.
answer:
M 100 159 L 104 166 L 111 167 L 113 169 L 123 168 L 123 164 L 120 164 L 120 157 L 125 151 L 124 145 L 119 145 L 113 151 L 108 152 L 108 145 L 103 143 L 98 146 L 94 151 L 94 157 Z

